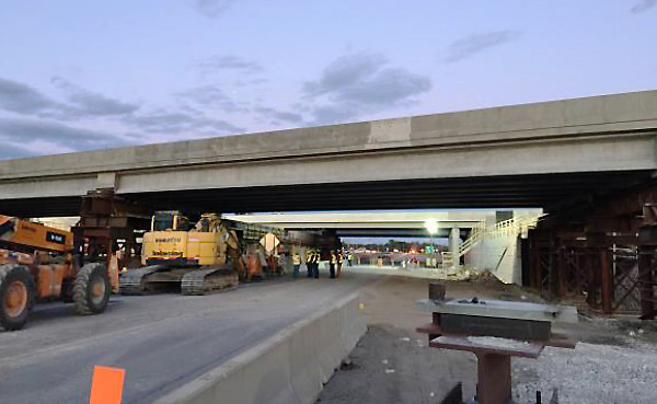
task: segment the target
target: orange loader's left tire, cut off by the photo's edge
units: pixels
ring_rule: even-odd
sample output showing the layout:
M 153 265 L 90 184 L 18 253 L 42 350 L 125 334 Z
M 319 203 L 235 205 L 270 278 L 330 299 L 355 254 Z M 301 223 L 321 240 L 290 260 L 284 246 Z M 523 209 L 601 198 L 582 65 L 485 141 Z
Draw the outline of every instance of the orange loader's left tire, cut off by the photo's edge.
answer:
M 27 268 L 9 264 L 0 266 L 0 327 L 20 330 L 34 305 L 34 279 Z

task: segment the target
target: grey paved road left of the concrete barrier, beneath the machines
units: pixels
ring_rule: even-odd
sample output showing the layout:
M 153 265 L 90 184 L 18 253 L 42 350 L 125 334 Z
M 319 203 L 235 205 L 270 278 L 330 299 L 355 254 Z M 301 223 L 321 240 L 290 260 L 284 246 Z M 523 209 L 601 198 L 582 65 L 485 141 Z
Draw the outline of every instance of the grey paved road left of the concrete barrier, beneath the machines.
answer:
M 113 297 L 101 315 L 38 305 L 27 327 L 0 332 L 0 403 L 89 403 L 94 365 L 126 369 L 124 403 L 150 403 L 374 281 L 278 279 L 205 296 Z

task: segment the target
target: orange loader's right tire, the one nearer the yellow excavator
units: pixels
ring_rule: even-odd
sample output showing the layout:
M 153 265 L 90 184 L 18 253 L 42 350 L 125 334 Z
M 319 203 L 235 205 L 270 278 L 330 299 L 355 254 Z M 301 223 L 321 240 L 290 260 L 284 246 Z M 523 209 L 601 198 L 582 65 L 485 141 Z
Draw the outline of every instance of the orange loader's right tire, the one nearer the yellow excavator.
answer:
M 84 265 L 73 284 L 76 311 L 83 315 L 102 313 L 107 308 L 111 292 L 107 268 L 100 263 Z

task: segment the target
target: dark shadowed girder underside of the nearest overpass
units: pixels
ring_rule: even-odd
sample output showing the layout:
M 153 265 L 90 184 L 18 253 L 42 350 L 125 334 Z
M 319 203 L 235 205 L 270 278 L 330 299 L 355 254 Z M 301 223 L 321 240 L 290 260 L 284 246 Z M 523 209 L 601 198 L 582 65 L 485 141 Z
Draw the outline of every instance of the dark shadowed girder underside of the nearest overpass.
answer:
M 216 212 L 367 209 L 473 209 L 587 204 L 652 182 L 650 171 L 590 172 L 123 194 L 155 209 Z M 193 184 L 191 184 L 193 185 Z M 81 196 L 0 200 L 0 212 L 21 217 L 77 216 Z

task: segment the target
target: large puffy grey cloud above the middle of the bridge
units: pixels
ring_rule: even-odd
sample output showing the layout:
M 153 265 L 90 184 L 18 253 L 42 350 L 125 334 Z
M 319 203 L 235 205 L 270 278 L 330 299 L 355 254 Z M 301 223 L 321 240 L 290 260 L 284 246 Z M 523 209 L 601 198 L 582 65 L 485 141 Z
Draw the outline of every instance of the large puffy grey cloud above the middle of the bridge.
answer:
M 313 124 L 332 124 L 362 113 L 406 105 L 431 89 L 429 77 L 389 68 L 379 54 L 342 56 L 324 68 L 321 77 L 303 85 L 313 102 Z

